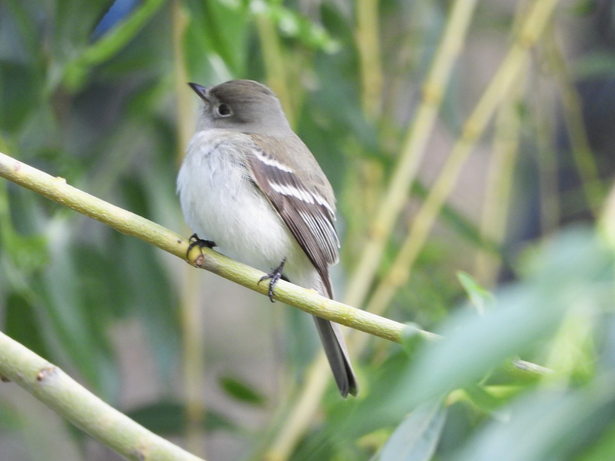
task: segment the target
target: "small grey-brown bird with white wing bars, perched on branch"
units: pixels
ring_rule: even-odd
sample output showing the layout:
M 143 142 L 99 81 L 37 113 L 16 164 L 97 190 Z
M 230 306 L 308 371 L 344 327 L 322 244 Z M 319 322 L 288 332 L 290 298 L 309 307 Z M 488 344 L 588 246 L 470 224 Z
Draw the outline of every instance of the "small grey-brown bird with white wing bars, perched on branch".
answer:
M 268 87 L 234 80 L 205 88 L 197 132 L 177 177 L 186 222 L 200 241 L 249 266 L 333 299 L 339 261 L 333 189 Z M 214 243 L 215 242 L 215 243 Z M 261 279 L 263 280 L 263 279 Z M 357 395 L 339 325 L 314 317 L 339 392 Z

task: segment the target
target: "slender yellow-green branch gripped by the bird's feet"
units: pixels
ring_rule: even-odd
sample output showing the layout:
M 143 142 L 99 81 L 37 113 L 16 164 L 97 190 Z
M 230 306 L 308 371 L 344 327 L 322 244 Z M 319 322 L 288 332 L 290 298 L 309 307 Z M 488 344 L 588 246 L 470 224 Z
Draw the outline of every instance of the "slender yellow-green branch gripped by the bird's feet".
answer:
M 20 186 L 54 200 L 65 207 L 79 211 L 101 223 L 108 224 L 122 234 L 133 235 L 144 242 L 168 251 L 178 258 L 185 259 L 188 250 L 188 241 L 175 232 L 159 224 L 135 215 L 130 211 L 111 205 L 105 200 L 93 197 L 76 187 L 66 184 L 63 178 L 50 176 L 43 171 L 30 167 L 19 160 L 13 159 L 0 152 L 0 176 L 13 181 Z M 268 285 L 256 282 L 260 280 L 263 272 L 253 269 L 237 261 L 227 258 L 213 250 L 203 250 L 202 256 L 196 249 L 191 252 L 190 264 L 202 267 L 232 282 L 239 283 L 250 290 L 266 294 Z M 306 290 L 292 283 L 280 282 L 276 285 L 276 299 L 288 305 L 297 307 L 305 312 L 317 315 L 327 320 L 335 321 L 341 325 L 359 329 L 365 333 L 399 342 L 402 334 L 420 334 L 428 339 L 437 337 L 434 333 L 413 329 L 402 323 L 379 317 L 363 310 L 355 309 L 341 302 L 333 301 L 320 296 L 313 290 Z

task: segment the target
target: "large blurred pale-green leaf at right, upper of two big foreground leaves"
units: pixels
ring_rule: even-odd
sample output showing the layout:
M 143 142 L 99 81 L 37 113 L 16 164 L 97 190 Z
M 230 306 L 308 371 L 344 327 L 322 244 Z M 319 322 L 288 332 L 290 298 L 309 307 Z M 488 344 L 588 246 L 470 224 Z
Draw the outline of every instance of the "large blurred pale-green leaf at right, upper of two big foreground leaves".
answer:
M 613 260 L 589 229 L 562 232 L 532 260 L 526 280 L 501 290 L 492 312 L 451 316 L 443 339 L 420 348 L 386 405 L 418 404 L 465 387 L 549 339 L 568 309 L 580 309 L 587 299 L 608 305 Z

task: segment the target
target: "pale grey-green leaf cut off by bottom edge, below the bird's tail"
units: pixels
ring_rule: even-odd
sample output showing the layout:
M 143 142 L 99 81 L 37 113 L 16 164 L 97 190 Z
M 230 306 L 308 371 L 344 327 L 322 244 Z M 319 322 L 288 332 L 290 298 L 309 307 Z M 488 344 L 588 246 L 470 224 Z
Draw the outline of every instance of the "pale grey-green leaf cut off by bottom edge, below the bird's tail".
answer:
M 384 444 L 379 461 L 427 461 L 442 435 L 446 408 L 442 400 L 414 409 Z

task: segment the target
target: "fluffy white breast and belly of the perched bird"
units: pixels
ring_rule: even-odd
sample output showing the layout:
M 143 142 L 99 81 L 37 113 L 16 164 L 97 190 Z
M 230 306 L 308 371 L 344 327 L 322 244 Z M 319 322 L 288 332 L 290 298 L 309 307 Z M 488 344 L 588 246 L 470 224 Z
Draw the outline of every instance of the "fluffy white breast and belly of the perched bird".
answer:
M 177 178 L 181 209 L 191 229 L 221 253 L 265 272 L 288 258 L 292 271 L 306 256 L 253 183 L 242 154 L 252 148 L 242 133 L 197 132 Z

